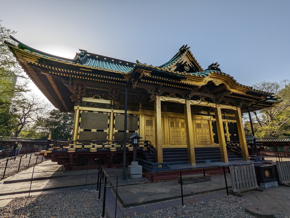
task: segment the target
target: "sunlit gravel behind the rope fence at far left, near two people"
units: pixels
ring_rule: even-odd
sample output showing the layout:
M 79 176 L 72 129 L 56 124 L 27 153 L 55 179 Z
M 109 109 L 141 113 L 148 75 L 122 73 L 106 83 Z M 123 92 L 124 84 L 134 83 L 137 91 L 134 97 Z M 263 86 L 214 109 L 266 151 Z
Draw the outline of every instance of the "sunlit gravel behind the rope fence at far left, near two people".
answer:
M 26 154 L 22 156 L 19 172 L 28 168 L 28 167 L 21 167 L 21 166 L 28 166 L 29 159 L 30 159 L 30 154 L 28 154 L 27 157 L 26 157 Z M 38 156 L 37 158 L 37 156 L 34 156 L 34 153 L 32 153 L 29 165 L 36 165 L 36 159 L 37 159 L 37 164 L 40 164 L 42 160 L 42 156 Z M 45 160 L 47 159 L 43 159 L 43 161 Z M 4 173 L 6 161 L 7 161 L 7 158 L 0 160 L 0 180 L 3 179 L 3 173 Z M 14 161 L 14 157 L 11 157 L 8 159 L 8 164 L 7 164 L 4 178 L 7 178 L 11 174 L 17 173 L 19 162 L 20 162 L 20 156 L 17 156 L 15 161 Z

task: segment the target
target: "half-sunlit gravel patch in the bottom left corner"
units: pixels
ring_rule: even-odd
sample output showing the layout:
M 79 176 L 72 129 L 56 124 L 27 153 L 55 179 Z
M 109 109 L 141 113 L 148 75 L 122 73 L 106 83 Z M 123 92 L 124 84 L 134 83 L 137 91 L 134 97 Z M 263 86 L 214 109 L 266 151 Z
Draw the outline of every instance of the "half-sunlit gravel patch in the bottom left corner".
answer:
M 6 218 L 102 217 L 102 202 L 95 190 L 14 198 L 0 209 L 0 217 Z

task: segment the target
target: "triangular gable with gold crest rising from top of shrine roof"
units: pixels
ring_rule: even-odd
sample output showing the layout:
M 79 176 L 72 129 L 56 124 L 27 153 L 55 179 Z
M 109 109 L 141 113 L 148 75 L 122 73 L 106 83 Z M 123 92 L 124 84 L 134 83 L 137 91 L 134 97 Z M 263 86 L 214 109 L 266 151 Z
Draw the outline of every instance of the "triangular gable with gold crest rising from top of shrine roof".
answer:
M 160 68 L 170 69 L 179 72 L 195 73 L 203 71 L 200 64 L 192 55 L 187 47 L 187 44 L 182 46 L 178 52 L 165 64 L 159 66 Z

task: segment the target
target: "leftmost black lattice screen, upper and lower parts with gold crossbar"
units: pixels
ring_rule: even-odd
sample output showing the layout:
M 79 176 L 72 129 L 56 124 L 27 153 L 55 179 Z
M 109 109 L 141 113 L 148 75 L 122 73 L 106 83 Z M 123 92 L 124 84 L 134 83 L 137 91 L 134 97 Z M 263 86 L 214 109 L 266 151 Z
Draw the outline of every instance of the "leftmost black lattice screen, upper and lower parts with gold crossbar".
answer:
M 78 140 L 107 141 L 109 113 L 81 111 Z

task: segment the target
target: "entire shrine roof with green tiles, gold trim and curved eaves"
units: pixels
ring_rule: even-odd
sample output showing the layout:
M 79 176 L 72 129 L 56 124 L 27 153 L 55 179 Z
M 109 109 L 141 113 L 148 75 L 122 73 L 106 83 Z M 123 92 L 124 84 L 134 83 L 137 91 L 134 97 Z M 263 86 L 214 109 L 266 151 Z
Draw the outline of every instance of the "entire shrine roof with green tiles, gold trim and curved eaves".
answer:
M 269 107 L 278 102 L 272 93 L 237 83 L 232 76 L 222 72 L 217 63 L 203 70 L 187 45 L 164 65 L 153 67 L 138 60 L 135 64 L 85 50 L 80 50 L 73 59 L 61 58 L 12 39 L 19 44 L 6 42 L 10 51 L 41 92 L 61 111 L 72 110 L 73 102 L 79 101 L 86 92 L 122 90 L 128 81 L 139 92 L 155 90 L 158 86 L 166 90 L 164 92 L 193 94 L 192 97 L 225 97 L 225 101 L 242 99 L 254 104 L 255 108 Z

